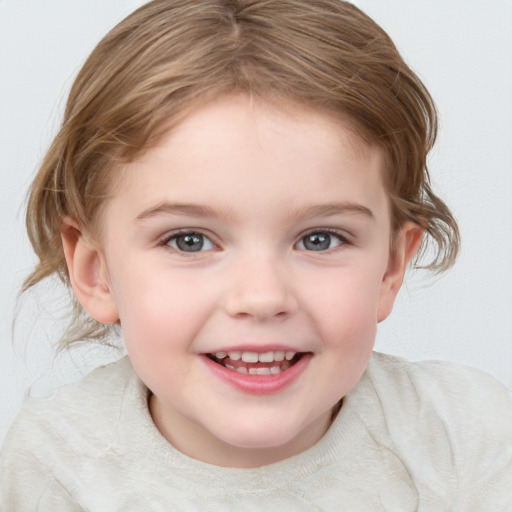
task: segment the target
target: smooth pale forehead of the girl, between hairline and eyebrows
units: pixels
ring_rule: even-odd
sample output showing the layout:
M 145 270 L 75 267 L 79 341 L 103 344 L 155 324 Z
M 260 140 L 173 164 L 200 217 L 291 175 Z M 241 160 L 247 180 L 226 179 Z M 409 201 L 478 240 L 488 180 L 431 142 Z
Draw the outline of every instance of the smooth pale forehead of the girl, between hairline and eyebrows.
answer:
M 260 205 L 253 211 L 279 198 L 290 208 L 306 200 L 371 205 L 384 194 L 383 161 L 378 147 L 325 112 L 226 97 L 193 111 L 123 166 L 113 200 L 126 195 L 148 207 L 176 195 L 226 204 L 245 197 Z

